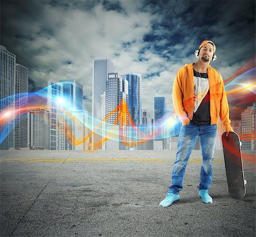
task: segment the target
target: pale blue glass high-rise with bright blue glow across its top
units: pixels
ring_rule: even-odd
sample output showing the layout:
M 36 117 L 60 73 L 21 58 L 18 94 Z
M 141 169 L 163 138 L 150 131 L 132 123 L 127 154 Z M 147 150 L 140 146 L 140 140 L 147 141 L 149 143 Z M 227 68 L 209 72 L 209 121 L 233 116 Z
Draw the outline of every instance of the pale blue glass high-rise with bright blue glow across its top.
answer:
M 88 114 L 82 111 L 82 85 L 75 80 L 48 82 L 48 110 L 50 112 L 50 149 L 88 149 Z M 86 115 L 85 115 L 86 114 Z M 77 140 L 78 139 L 78 140 Z

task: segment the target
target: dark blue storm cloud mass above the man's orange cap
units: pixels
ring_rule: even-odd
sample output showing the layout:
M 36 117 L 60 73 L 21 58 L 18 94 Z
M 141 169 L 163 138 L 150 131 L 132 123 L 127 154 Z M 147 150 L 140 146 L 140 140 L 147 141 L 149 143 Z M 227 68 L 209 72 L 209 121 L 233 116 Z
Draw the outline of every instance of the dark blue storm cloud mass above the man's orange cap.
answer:
M 162 17 L 152 24 L 150 34 L 144 40 L 154 42 L 151 50 L 191 55 L 203 39 L 212 39 L 218 47 L 229 52 L 225 65 L 248 59 L 247 53 L 255 52 L 255 2 L 254 1 L 145 1 L 146 11 Z M 157 42 L 164 40 L 163 45 Z M 184 51 L 175 45 L 185 45 Z M 240 50 L 230 50 L 231 48 Z M 241 53 L 244 51 L 245 53 Z M 225 55 L 227 55 L 225 53 Z M 165 55 L 163 55 L 165 56 Z

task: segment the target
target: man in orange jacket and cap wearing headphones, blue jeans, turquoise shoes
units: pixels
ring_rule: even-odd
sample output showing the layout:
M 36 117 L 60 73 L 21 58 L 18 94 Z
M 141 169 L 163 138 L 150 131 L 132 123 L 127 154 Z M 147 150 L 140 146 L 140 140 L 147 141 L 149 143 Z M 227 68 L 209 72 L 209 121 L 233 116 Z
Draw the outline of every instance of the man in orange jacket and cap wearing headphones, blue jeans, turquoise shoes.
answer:
M 200 136 L 203 164 L 201 165 L 199 197 L 204 203 L 212 203 L 208 194 L 212 182 L 213 154 L 217 135 L 217 120 L 220 117 L 227 135 L 230 126 L 229 106 L 221 74 L 212 66 L 216 46 L 204 40 L 195 51 L 197 63 L 185 64 L 176 74 L 172 90 L 174 109 L 182 122 L 177 144 L 177 154 L 172 171 L 172 185 L 160 206 L 167 207 L 179 201 L 183 178 L 189 156 Z

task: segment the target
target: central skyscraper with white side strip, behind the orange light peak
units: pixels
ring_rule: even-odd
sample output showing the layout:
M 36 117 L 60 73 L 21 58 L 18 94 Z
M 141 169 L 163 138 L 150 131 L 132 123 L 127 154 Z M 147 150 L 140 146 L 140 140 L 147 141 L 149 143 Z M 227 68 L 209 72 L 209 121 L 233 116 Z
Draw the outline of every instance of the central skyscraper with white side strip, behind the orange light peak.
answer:
M 113 126 L 119 127 L 117 131 L 117 143 L 119 149 L 126 149 L 128 142 L 128 81 L 122 78 L 118 73 L 108 73 L 106 80 L 106 105 L 105 114 L 106 118 L 105 134 L 108 136 L 109 129 Z M 114 111 L 117 109 L 117 111 Z M 110 132 L 111 133 L 111 132 Z M 119 142 L 120 141 L 120 142 Z M 106 143 L 106 149 L 109 149 L 110 141 Z

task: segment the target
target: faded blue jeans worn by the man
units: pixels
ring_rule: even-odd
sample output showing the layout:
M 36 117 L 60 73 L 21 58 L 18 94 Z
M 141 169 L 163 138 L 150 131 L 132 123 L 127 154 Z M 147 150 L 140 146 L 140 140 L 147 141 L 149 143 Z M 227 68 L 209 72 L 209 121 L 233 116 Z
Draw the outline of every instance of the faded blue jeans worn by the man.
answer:
M 201 165 L 199 190 L 209 189 L 212 182 L 213 154 L 217 135 L 217 124 L 195 126 L 193 123 L 182 126 L 177 144 L 177 154 L 172 171 L 172 185 L 170 193 L 179 193 L 183 189 L 182 183 L 189 156 L 200 136 L 203 164 Z

